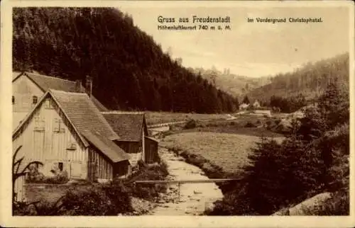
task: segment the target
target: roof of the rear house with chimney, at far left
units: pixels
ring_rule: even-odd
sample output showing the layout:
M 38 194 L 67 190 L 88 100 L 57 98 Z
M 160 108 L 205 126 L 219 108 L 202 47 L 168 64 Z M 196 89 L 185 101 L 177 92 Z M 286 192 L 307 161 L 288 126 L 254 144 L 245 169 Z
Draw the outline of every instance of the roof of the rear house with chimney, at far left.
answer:
M 18 73 L 18 74 L 17 74 Z M 17 75 L 17 76 L 16 76 Z M 43 74 L 35 74 L 30 72 L 13 72 L 13 80 L 18 79 L 19 76 L 26 75 L 28 79 L 33 81 L 44 93 L 49 89 L 58 91 L 73 92 L 73 93 L 85 93 L 84 86 L 80 84 L 80 88 L 77 88 L 76 81 L 70 81 L 66 79 L 60 79 L 53 76 L 46 76 Z M 107 111 L 108 109 L 97 100 L 94 96 L 90 97 L 92 102 L 99 108 L 100 111 Z

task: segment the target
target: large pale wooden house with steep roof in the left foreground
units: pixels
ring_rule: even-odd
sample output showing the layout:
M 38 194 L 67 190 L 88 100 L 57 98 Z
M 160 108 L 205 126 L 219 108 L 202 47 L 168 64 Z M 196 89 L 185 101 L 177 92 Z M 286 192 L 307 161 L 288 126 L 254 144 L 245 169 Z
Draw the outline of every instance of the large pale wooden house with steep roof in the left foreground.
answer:
M 19 157 L 27 162 L 43 162 L 38 168 L 45 176 L 59 170 L 69 178 L 101 182 L 130 172 L 117 139 L 87 93 L 50 89 L 13 131 L 13 148 L 22 145 Z

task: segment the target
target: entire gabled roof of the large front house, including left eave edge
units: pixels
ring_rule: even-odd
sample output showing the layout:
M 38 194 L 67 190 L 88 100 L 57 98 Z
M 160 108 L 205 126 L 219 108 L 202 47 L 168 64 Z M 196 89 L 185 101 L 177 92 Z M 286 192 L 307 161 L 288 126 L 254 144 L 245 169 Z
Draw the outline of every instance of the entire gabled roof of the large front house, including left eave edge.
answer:
M 45 93 L 36 106 L 31 110 L 26 118 L 13 132 L 13 139 L 18 136 L 31 116 L 45 101 L 46 98 L 52 97 L 55 105 L 61 110 L 62 114 L 70 125 L 75 130 L 78 137 L 80 137 L 85 147 L 93 144 L 103 154 L 105 154 L 111 161 L 122 161 L 126 159 L 127 154 L 124 155 L 121 148 L 115 147 L 111 140 L 119 139 L 104 116 L 99 112 L 96 106 L 92 103 L 86 93 L 70 93 L 65 91 L 55 91 L 50 89 Z M 114 154 L 114 152 L 116 154 Z

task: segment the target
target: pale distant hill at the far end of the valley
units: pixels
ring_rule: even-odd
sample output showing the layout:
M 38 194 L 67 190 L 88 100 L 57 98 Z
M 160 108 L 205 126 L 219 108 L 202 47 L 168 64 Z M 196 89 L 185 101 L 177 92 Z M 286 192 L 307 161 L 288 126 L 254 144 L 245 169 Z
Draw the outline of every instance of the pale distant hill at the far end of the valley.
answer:
M 252 78 L 249 76 L 230 74 L 229 69 L 224 69 L 224 72 L 213 69 L 213 67 L 212 69 L 195 68 L 190 70 L 195 74 L 201 74 L 202 78 L 207 79 L 218 89 L 239 98 L 242 98 L 242 96 L 249 93 L 249 91 L 271 82 L 270 77 Z

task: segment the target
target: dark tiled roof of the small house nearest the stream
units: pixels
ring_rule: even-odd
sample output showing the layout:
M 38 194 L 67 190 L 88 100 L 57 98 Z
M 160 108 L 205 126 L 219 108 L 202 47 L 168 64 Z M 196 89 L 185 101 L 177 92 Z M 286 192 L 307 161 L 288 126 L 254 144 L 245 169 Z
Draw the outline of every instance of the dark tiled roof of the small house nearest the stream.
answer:
M 102 115 L 119 135 L 119 141 L 141 141 L 144 113 L 102 112 Z

